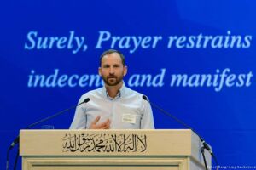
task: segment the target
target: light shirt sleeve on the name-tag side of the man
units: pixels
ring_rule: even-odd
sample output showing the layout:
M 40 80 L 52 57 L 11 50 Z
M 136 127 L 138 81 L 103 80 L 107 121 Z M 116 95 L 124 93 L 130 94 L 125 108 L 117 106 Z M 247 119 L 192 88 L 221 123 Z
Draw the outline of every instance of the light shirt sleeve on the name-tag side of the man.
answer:
M 152 109 L 148 101 L 143 99 L 143 117 L 141 121 L 141 129 L 154 129 L 154 117 Z

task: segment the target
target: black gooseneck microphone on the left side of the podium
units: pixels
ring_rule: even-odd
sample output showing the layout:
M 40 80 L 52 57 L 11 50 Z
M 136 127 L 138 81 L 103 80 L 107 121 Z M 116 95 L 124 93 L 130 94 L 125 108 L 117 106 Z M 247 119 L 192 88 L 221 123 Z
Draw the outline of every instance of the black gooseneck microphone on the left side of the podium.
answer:
M 59 111 L 57 113 L 55 113 L 54 115 L 52 116 L 48 116 L 48 117 L 45 117 L 44 119 L 41 119 L 39 120 L 38 122 L 34 122 L 32 124 L 30 124 L 28 127 L 26 127 L 25 129 L 29 129 L 29 128 L 32 128 L 32 127 L 35 127 L 37 126 L 38 124 L 42 123 L 42 122 L 46 122 L 46 121 L 49 121 L 50 119 L 54 118 L 55 116 L 60 116 L 61 114 L 67 112 L 67 111 L 70 111 L 72 110 L 73 108 L 76 108 L 77 106 L 79 105 L 82 105 L 84 103 L 88 103 L 90 101 L 90 98 L 86 98 L 84 99 L 84 101 L 82 101 L 81 103 L 79 103 L 78 105 L 73 105 L 65 110 L 62 110 L 62 111 Z M 20 135 L 18 135 L 14 141 L 9 145 L 9 148 L 7 150 L 7 156 L 6 156 L 6 169 L 9 170 L 9 151 L 12 150 L 16 144 L 19 144 L 20 142 Z

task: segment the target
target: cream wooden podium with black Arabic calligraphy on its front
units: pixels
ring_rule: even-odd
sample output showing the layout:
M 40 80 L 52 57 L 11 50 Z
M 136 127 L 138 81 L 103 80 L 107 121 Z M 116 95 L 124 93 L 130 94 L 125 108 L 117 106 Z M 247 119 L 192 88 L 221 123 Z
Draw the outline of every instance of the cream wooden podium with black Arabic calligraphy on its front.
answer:
M 20 130 L 23 170 L 205 169 L 200 148 L 188 129 Z

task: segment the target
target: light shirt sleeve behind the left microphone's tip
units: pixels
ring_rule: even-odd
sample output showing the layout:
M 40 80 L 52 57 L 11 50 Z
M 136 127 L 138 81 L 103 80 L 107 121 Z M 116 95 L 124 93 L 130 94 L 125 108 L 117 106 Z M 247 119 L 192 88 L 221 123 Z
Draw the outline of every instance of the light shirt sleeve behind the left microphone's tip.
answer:
M 84 99 L 85 98 L 82 96 L 79 99 L 79 103 L 82 102 Z M 75 115 L 73 117 L 73 122 L 71 123 L 69 129 L 84 129 L 86 128 L 86 122 L 87 122 L 86 111 L 82 104 L 76 108 Z

